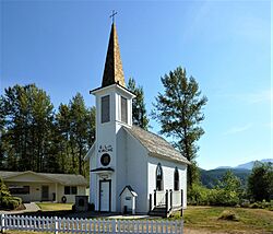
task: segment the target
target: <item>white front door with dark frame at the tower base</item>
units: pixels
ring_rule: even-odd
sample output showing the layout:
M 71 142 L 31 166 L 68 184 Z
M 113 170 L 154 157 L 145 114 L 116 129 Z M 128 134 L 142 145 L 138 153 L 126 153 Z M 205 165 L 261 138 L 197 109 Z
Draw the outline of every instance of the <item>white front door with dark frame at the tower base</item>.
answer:
M 110 212 L 111 209 L 111 180 L 99 180 L 99 211 Z

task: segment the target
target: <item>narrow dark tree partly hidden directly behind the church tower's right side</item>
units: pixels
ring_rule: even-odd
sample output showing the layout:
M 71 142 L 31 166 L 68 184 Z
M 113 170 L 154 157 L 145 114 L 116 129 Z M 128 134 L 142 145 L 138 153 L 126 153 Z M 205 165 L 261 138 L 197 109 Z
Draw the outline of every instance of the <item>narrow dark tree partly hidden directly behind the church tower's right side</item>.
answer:
M 130 78 L 128 82 L 128 90 L 135 95 L 135 97 L 132 101 L 133 124 L 147 130 L 149 119 L 146 116 L 143 87 L 136 86 L 134 79 Z

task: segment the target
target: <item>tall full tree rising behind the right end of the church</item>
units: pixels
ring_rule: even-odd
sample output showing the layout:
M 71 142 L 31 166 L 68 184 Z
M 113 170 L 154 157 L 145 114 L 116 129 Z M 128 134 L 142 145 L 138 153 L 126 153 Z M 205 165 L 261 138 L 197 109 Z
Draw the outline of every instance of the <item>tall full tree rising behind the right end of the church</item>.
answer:
M 171 137 L 174 145 L 192 163 L 188 167 L 191 187 L 199 179 L 194 159 L 199 150 L 197 141 L 204 133 L 200 124 L 204 119 L 202 108 L 207 98 L 201 96 L 198 82 L 192 77 L 187 78 L 181 67 L 161 80 L 165 90 L 156 96 L 152 116 L 161 124 L 161 133 Z

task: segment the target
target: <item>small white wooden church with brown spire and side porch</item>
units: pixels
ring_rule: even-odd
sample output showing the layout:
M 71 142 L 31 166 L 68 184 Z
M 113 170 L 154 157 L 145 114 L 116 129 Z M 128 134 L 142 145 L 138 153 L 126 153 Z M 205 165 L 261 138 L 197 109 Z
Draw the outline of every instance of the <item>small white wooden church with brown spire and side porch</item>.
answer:
M 90 161 L 90 203 L 96 211 L 169 215 L 187 207 L 190 162 L 162 137 L 132 125 L 134 94 L 126 87 L 111 25 L 96 98 L 96 141 Z

